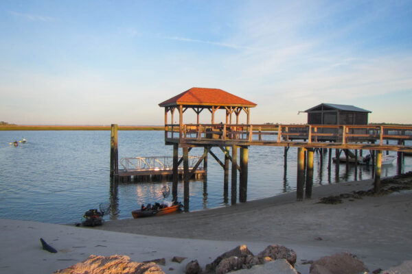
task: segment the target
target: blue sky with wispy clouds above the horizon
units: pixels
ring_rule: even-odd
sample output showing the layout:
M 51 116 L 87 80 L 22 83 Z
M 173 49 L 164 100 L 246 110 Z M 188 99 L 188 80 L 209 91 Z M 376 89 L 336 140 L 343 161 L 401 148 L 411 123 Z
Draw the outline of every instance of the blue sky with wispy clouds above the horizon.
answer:
M 251 123 L 319 103 L 412 123 L 411 26 L 410 0 L 3 0 L 0 121 L 162 125 L 159 103 L 202 87 L 256 103 Z

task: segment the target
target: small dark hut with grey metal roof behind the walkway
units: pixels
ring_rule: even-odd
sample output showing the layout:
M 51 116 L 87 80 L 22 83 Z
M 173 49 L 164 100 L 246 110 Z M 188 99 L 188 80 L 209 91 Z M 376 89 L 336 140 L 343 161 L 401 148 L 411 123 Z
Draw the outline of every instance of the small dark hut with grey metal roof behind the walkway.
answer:
M 309 125 L 367 125 L 369 110 L 354 105 L 321 103 L 305 110 Z

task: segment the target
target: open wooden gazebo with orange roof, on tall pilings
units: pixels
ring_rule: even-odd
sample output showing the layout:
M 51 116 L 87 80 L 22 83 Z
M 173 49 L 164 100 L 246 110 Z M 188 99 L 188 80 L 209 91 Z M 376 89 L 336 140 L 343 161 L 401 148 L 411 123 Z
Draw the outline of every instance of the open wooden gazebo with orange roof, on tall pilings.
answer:
M 162 103 L 159 106 L 165 108 L 165 144 L 173 145 L 173 185 L 172 192 L 173 196 L 176 197 L 177 194 L 177 173 L 178 166 L 183 161 L 183 180 L 184 180 L 184 204 L 185 210 L 188 210 L 189 203 L 189 179 L 192 174 L 196 171 L 199 164 L 203 162 L 203 169 L 207 170 L 207 155 L 210 154 L 213 158 L 222 166 L 225 171 L 224 177 L 224 190 L 227 193 L 228 188 L 228 176 L 229 176 L 229 160 L 232 162 L 231 169 L 231 201 L 236 203 L 237 196 L 237 173 L 240 172 L 240 184 L 239 184 L 239 200 L 246 201 L 247 193 L 247 162 L 248 162 L 248 146 L 240 145 L 236 140 L 232 140 L 232 144 L 229 145 L 232 149 L 232 155 L 229 155 L 229 147 L 225 145 L 225 138 L 227 136 L 226 129 L 229 130 L 236 129 L 236 127 L 243 125 L 238 125 L 239 116 L 242 112 L 246 114 L 246 122 L 249 125 L 250 122 L 250 109 L 256 106 L 255 103 L 242 99 L 236 95 L 233 95 L 225 90 L 218 88 L 190 88 L 179 95 L 176 95 Z M 196 125 L 187 125 L 183 123 L 183 113 L 188 109 L 194 110 L 196 113 Z M 209 110 L 211 114 L 211 125 L 200 125 L 199 115 L 203 110 Z M 179 112 L 179 124 L 174 124 L 174 112 Z M 226 114 L 226 123 L 221 125 L 215 123 L 215 113 L 218 110 L 224 110 Z M 170 123 L 168 122 L 168 113 L 171 114 Z M 232 116 L 236 115 L 236 125 L 232 125 Z M 230 125 L 230 126 L 227 126 Z M 179 138 L 174 138 L 174 127 L 179 127 Z M 197 138 L 201 138 L 202 129 L 204 142 L 197 144 L 188 144 L 183 140 L 182 136 L 186 135 L 186 129 L 192 129 L 192 131 L 197 134 Z M 169 130 L 171 129 L 171 130 Z M 168 132 L 171 136 L 168 136 Z M 208 132 L 208 133 L 206 133 Z M 213 132 L 213 133 L 212 133 Z M 220 135 L 219 135 L 220 134 Z M 229 134 L 233 136 L 235 133 Z M 220 136 L 222 140 L 214 142 L 214 138 Z M 230 137 L 229 137 L 230 138 Z M 179 160 L 178 150 L 179 147 L 183 149 L 183 157 Z M 198 162 L 189 170 L 187 164 L 188 153 L 192 147 L 204 147 L 204 153 Z M 211 147 L 220 147 L 225 153 L 225 160 L 222 162 L 218 159 L 215 153 L 211 151 Z M 238 164 L 238 149 L 240 149 L 240 165 Z

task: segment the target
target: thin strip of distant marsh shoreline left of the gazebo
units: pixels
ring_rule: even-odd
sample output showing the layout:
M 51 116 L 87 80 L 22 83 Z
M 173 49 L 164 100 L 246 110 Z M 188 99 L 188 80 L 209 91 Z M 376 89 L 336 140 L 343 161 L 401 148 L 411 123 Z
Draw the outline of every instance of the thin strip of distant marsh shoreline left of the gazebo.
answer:
M 164 130 L 160 125 L 119 125 L 119 130 Z M 0 125 L 0 131 L 16 130 L 111 130 L 110 125 Z

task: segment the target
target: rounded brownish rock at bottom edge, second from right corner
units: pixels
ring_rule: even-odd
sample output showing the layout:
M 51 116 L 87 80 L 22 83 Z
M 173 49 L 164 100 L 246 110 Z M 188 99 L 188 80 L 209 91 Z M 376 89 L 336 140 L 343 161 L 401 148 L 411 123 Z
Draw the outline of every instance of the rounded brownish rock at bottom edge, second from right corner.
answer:
M 353 274 L 365 271 L 369 271 L 365 264 L 351 253 L 325 256 L 310 266 L 310 274 Z

